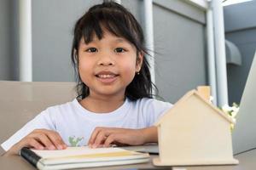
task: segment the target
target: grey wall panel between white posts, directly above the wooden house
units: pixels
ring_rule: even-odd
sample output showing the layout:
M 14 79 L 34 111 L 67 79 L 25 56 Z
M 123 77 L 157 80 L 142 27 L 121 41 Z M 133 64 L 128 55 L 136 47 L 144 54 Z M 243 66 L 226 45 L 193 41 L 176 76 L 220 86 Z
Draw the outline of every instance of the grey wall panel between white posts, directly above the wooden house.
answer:
M 195 20 L 154 5 L 156 85 L 167 101 L 207 84 L 204 32 Z

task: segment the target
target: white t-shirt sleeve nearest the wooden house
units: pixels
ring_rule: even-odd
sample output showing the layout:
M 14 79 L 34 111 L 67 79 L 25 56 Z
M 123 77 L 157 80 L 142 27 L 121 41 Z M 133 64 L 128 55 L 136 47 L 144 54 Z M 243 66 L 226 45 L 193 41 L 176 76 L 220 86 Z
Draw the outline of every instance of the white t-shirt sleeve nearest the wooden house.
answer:
M 147 116 L 147 127 L 151 127 L 157 122 L 166 111 L 172 108 L 172 104 L 169 102 L 160 101 L 157 99 L 149 99 L 145 105 L 144 114 Z

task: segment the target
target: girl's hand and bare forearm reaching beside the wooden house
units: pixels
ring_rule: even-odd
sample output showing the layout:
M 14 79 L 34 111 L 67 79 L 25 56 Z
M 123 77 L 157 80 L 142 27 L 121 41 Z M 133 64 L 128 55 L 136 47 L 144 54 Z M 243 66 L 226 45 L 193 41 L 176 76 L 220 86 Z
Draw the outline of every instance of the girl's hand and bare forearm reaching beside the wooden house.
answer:
M 88 145 L 91 148 L 117 145 L 140 145 L 157 142 L 157 128 L 129 129 L 118 127 L 96 127 L 90 136 Z

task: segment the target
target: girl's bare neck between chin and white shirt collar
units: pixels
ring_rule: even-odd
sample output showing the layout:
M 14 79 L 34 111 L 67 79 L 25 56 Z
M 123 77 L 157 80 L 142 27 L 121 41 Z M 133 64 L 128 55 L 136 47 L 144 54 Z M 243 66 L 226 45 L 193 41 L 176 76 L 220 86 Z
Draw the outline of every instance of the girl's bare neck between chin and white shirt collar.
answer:
M 95 113 L 108 113 L 117 110 L 125 102 L 125 97 L 119 98 L 98 98 L 94 96 L 88 96 L 80 101 L 86 110 Z

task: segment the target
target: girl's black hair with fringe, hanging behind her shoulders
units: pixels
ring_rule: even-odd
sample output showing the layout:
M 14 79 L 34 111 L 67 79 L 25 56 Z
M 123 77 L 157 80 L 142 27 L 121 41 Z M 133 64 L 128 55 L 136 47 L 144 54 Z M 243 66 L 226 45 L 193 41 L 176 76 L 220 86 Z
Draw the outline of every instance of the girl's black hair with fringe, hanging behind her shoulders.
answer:
M 117 37 L 124 37 L 137 48 L 139 53 L 148 54 L 144 46 L 143 29 L 134 16 L 122 5 L 114 2 L 104 2 L 91 7 L 75 24 L 72 46 L 72 62 L 77 73 L 78 99 L 84 99 L 89 94 L 89 88 L 82 82 L 79 75 L 79 42 L 84 38 L 85 43 L 92 41 L 93 35 L 102 39 L 102 27 Z M 148 60 L 144 57 L 139 75 L 136 74 L 132 82 L 125 89 L 128 99 L 152 98 L 152 88 Z

